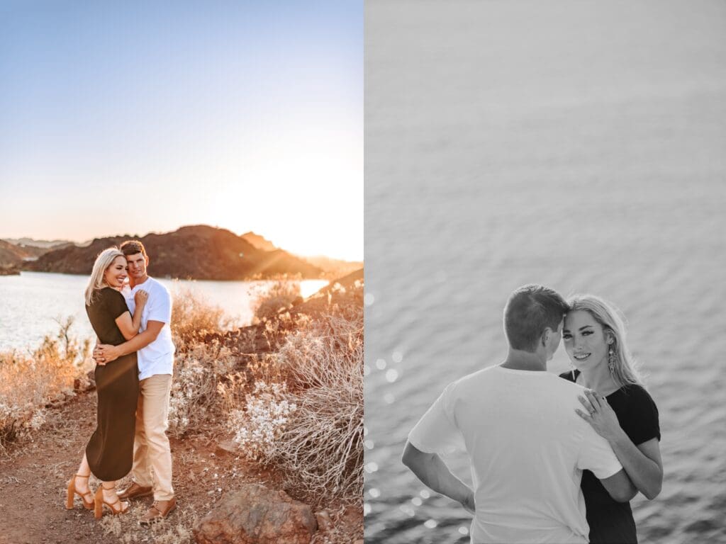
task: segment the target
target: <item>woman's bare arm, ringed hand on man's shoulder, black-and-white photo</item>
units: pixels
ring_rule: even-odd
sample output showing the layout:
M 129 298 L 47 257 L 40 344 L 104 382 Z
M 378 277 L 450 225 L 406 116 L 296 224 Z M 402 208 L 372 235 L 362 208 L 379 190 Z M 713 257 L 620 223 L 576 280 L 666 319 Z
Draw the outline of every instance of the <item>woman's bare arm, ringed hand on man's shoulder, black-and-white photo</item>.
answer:
M 656 498 L 663 485 L 663 462 L 658 439 L 653 438 L 636 446 L 620 426 L 618 417 L 605 397 L 590 390 L 585 391 L 585 396 L 587 400 L 581 399 L 580 402 L 588 410 L 592 408 L 593 412 L 590 416 L 585 416 L 577 411 L 579 416 L 590 423 L 597 434 L 608 440 L 618 461 L 635 485 L 636 493 L 640 491 L 649 499 Z

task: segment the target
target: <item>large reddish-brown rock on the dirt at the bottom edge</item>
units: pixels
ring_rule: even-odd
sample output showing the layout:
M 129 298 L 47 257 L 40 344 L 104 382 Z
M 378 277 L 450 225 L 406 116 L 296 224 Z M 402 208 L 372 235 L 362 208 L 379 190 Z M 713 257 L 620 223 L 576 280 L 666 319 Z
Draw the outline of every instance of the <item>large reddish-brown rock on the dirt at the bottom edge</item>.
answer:
M 200 544 L 308 544 L 317 530 L 309 506 L 282 491 L 245 485 L 227 493 L 194 528 Z

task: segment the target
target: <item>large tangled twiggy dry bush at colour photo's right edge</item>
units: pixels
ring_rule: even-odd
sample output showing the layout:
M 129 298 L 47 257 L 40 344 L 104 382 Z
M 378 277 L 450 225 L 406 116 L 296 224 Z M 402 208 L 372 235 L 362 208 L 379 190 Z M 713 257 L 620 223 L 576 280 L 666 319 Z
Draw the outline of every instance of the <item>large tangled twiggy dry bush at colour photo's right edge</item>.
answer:
M 266 399 L 247 395 L 246 420 L 240 413 L 230 419 L 243 452 L 273 463 L 290 487 L 319 502 L 356 502 L 362 493 L 362 326 L 361 308 L 355 318 L 326 316 L 288 335 L 262 367 L 264 376 L 279 376 L 276 395 L 270 397 L 272 384 L 266 384 L 260 388 Z M 283 402 L 295 409 L 276 421 Z M 255 406 L 262 409 L 250 413 Z M 268 440 L 270 433 L 275 440 Z

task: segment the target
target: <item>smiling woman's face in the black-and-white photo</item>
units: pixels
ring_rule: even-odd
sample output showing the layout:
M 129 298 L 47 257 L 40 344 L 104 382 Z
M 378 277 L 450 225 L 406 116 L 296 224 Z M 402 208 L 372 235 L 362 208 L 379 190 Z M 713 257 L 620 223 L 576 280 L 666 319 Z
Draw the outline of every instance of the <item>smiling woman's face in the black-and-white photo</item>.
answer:
M 562 339 L 567 355 L 577 368 L 607 364 L 608 339 L 603 326 L 587 310 L 574 310 L 565 316 Z

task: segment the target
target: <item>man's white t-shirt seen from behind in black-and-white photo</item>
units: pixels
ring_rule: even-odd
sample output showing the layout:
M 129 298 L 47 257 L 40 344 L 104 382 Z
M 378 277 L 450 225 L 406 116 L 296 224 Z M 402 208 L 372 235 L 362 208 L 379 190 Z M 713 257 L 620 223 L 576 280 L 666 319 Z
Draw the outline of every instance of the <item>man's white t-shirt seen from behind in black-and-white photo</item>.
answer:
M 575 413 L 583 388 L 544 371 L 491 366 L 449 384 L 409 433 L 427 453 L 464 448 L 476 515 L 472 543 L 587 543 L 582 470 L 622 466 Z

